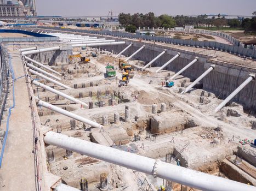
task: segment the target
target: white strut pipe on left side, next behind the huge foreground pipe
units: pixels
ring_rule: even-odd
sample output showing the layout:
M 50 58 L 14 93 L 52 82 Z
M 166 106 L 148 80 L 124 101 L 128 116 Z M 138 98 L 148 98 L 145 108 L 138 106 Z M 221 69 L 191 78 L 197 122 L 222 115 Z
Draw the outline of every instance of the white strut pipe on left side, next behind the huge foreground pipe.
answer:
M 82 123 L 86 123 L 88 124 L 89 126 L 92 126 L 92 127 L 95 127 L 95 128 L 102 128 L 103 126 L 101 126 L 101 124 L 99 123 L 96 123 L 94 121 L 90 121 L 88 120 L 87 118 L 84 118 L 84 117 L 81 117 L 79 115 L 76 115 L 76 114 L 73 114 L 71 113 L 70 111 L 66 111 L 64 109 L 61 109 L 61 108 L 58 108 L 52 104 L 49 104 L 49 103 L 46 103 L 46 102 L 43 102 L 42 100 L 38 100 L 38 105 L 39 106 L 43 106 L 44 108 L 48 108 L 50 110 L 53 110 L 53 111 L 56 111 L 58 112 L 59 114 L 62 114 L 62 115 L 65 115 L 67 117 L 71 117 L 73 118 L 74 120 L 77 120 L 77 121 L 80 121 Z

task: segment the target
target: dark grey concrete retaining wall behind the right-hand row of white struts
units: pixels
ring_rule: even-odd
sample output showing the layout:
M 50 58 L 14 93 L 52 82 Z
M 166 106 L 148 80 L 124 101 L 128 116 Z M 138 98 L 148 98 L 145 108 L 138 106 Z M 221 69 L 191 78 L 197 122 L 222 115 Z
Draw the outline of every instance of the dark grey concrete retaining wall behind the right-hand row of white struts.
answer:
M 127 41 L 126 45 L 118 46 L 101 46 L 102 49 L 106 49 L 114 52 L 121 52 L 130 41 Z M 133 52 L 138 50 L 143 44 L 134 43 L 126 52 L 123 53 L 125 56 L 132 55 Z M 153 58 L 159 55 L 164 49 L 167 52 L 159 58 L 152 67 L 160 67 L 166 63 L 170 58 L 175 56 L 178 52 L 181 52 L 179 58 L 175 59 L 166 69 L 172 71 L 179 71 L 181 68 L 185 67 L 190 63 L 196 56 L 200 57 L 199 60 L 193 64 L 189 69 L 185 70 L 183 75 L 190 77 L 191 80 L 195 80 L 200 76 L 205 70 L 207 70 L 211 64 L 215 64 L 216 67 L 211 73 L 209 73 L 203 79 L 203 89 L 215 93 L 219 98 L 226 98 L 232 93 L 241 83 L 249 77 L 250 73 L 256 73 L 255 69 L 243 68 L 230 63 L 224 63 L 220 61 L 214 61 L 211 56 L 201 55 L 199 53 L 178 50 L 171 47 L 146 44 L 145 49 L 141 50 L 134 59 L 140 59 L 146 63 L 150 62 Z M 242 104 L 244 109 L 254 109 L 256 110 L 256 80 L 250 82 L 240 93 L 236 95 L 233 99 L 234 101 Z

